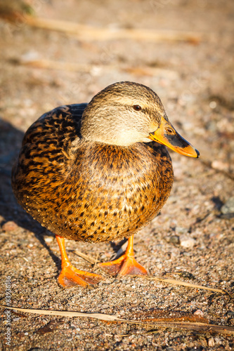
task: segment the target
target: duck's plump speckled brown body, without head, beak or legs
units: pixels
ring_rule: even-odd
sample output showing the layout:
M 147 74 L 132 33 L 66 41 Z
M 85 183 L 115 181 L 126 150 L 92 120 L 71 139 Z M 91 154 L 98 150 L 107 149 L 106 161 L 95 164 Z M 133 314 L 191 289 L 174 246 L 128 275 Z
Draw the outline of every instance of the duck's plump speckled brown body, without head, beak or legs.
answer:
M 58 107 L 28 129 L 13 168 L 15 197 L 61 237 L 129 237 L 157 215 L 169 196 L 169 154 L 156 143 L 120 147 L 84 140 L 85 107 Z

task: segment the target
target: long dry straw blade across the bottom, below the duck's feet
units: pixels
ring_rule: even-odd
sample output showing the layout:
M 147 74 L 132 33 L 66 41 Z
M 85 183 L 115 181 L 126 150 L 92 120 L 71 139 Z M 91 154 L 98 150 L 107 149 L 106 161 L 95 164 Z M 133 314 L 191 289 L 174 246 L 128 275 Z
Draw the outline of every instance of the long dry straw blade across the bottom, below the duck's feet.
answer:
M 234 328 L 231 326 L 218 326 L 214 324 L 207 323 L 191 323 L 191 322 L 141 322 L 134 321 L 131 319 L 122 319 L 110 314 L 101 314 L 101 313 L 84 313 L 84 312 L 72 312 L 72 311 L 54 311 L 54 310 L 31 310 L 27 308 L 18 308 L 18 307 L 8 307 L 3 305 L 8 310 L 16 310 L 27 313 L 36 313 L 36 314 L 46 314 L 48 316 L 63 316 L 63 317 L 88 317 L 100 319 L 105 322 L 122 322 L 129 324 L 138 324 L 144 328 L 173 328 L 173 329 L 185 329 L 188 331 L 201 331 L 201 332 L 210 332 L 210 333 L 225 333 L 225 334 L 234 334 Z M 155 333 L 156 331 L 148 331 L 146 333 Z

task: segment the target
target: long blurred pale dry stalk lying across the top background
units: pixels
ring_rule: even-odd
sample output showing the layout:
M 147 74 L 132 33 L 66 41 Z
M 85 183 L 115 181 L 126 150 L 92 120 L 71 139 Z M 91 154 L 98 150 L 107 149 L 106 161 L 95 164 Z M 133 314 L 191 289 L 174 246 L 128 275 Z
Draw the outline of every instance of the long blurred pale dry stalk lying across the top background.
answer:
M 5 1 L 6 2 L 6 1 Z M 25 11 L 26 9 L 26 11 Z M 182 31 L 156 31 L 150 29 L 134 28 L 98 28 L 89 25 L 81 25 L 65 20 L 49 20 L 34 16 L 33 8 L 19 1 L 18 6 L 0 5 L 0 16 L 9 22 L 22 22 L 31 27 L 46 30 L 54 30 L 76 36 L 81 41 L 103 41 L 112 39 L 131 39 L 142 41 L 188 41 L 191 44 L 198 44 L 201 40 L 201 33 Z

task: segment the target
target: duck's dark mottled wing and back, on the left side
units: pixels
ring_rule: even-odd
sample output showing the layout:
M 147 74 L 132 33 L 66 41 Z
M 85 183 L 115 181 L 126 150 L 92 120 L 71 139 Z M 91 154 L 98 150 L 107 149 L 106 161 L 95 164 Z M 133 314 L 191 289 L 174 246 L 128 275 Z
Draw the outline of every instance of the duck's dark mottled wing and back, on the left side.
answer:
M 15 192 L 19 193 L 20 188 L 33 187 L 33 182 L 44 183 L 48 176 L 58 177 L 65 173 L 72 142 L 79 142 L 85 107 L 86 104 L 56 107 L 28 128 L 13 167 L 12 185 Z

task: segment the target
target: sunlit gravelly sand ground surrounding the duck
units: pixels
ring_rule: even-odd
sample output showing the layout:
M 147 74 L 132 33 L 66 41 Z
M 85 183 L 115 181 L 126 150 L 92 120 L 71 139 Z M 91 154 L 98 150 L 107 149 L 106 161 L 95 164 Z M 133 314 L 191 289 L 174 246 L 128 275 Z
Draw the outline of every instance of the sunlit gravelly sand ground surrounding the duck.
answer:
M 66 5 L 64 5 L 66 4 Z M 199 41 L 86 40 L 63 32 L 0 22 L 1 304 L 11 277 L 11 306 L 115 314 L 125 319 L 201 320 L 234 326 L 228 294 L 103 273 L 96 288 L 62 289 L 53 234 L 18 206 L 11 167 L 22 135 L 58 105 L 88 102 L 115 81 L 138 81 L 160 95 L 171 122 L 200 159 L 171 152 L 174 187 L 160 216 L 136 235 L 136 258 L 155 277 L 233 291 L 234 121 L 233 1 L 32 1 L 37 15 L 115 32 L 118 28 L 193 32 Z M 80 64 L 70 70 L 20 65 L 25 60 Z M 226 204 L 226 206 L 225 206 Z M 223 206 L 224 205 L 224 206 Z M 9 223 L 13 221 L 13 223 Z M 14 225 L 15 223 L 15 225 Z M 79 250 L 110 260 L 117 243 L 67 241 L 77 267 L 93 271 Z M 94 268 L 95 272 L 100 272 Z M 7 281 L 8 282 L 8 281 Z M 1 309 L 1 350 L 233 350 L 230 333 L 149 328 L 89 318 Z M 177 318 L 177 319 L 176 319 Z

